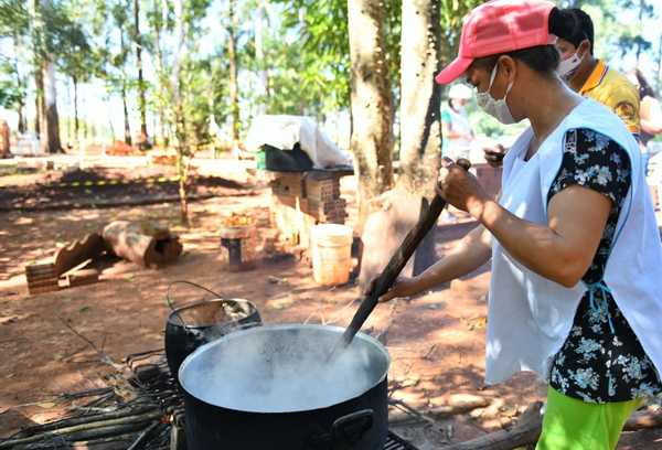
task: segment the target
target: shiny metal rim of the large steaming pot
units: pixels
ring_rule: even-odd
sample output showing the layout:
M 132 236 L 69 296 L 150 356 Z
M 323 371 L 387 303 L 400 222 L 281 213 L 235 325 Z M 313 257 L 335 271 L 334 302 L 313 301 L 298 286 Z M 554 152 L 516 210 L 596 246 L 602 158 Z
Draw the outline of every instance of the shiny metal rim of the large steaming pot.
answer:
M 365 341 L 369 344 L 371 344 L 375 350 L 377 350 L 380 353 L 382 353 L 382 355 L 385 357 L 386 360 L 386 367 L 384 369 L 384 373 L 378 377 L 378 379 L 376 379 L 372 385 L 370 385 L 370 387 L 366 387 L 365 390 L 363 390 L 363 393 L 361 395 L 351 397 L 351 398 L 345 398 L 341 401 L 337 401 L 334 404 L 331 405 L 320 405 L 317 408 L 312 408 L 312 409 L 291 409 L 291 410 L 281 410 L 281 411 L 271 411 L 271 413 L 265 413 L 265 411 L 258 411 L 258 410 L 250 410 L 250 409 L 235 409 L 235 408 L 229 408 L 223 405 L 215 405 L 214 403 L 210 401 L 209 399 L 203 399 L 197 397 L 196 395 L 192 394 L 190 389 L 186 388 L 185 384 L 182 382 L 182 375 L 184 373 L 184 371 L 186 371 L 186 367 L 202 353 L 204 353 L 207 349 L 211 349 L 215 345 L 223 345 L 225 342 L 227 341 L 232 341 L 233 339 L 241 339 L 243 335 L 245 334 L 249 334 L 249 333 L 259 333 L 259 332 L 268 332 L 270 330 L 295 330 L 295 329 L 311 329 L 311 330 L 324 330 L 324 331 L 332 331 L 335 332 L 338 334 L 338 338 L 340 339 L 340 336 L 342 336 L 342 334 L 345 331 L 344 326 L 338 326 L 338 325 L 322 325 L 322 324 L 316 324 L 316 323 L 284 323 L 284 324 L 271 324 L 271 325 L 261 325 L 261 326 L 256 326 L 256 328 L 252 328 L 252 329 L 247 329 L 247 330 L 238 330 L 238 331 L 233 331 L 232 333 L 228 333 L 224 336 L 221 336 L 220 339 L 212 341 L 210 343 L 206 343 L 204 345 L 199 346 L 195 351 L 193 351 L 193 353 L 191 353 L 189 356 L 186 356 L 186 358 L 182 362 L 182 364 L 180 365 L 179 372 L 178 372 L 178 381 L 180 383 L 180 386 L 182 387 L 182 389 L 184 389 L 186 392 L 186 394 L 189 394 L 190 396 L 192 396 L 193 398 L 203 401 L 207 405 L 211 406 L 215 406 L 217 408 L 223 408 L 223 409 L 228 409 L 228 410 L 237 410 L 237 411 L 242 411 L 242 413 L 256 413 L 256 414 L 289 414 L 289 413 L 303 413 L 303 411 L 312 411 L 312 410 L 318 410 L 318 409 L 324 409 L 324 408 L 330 408 L 333 407 L 335 405 L 340 405 L 344 401 L 349 401 L 353 398 L 356 398 L 365 393 L 367 393 L 369 390 L 373 389 L 375 386 L 380 385 L 382 382 L 384 382 L 384 379 L 386 379 L 387 375 L 388 375 L 388 369 L 391 367 L 391 355 L 388 354 L 388 351 L 386 350 L 386 347 L 380 342 L 377 341 L 375 338 L 365 334 L 363 332 L 357 332 L 356 335 L 354 336 L 354 340 L 361 340 L 361 341 Z

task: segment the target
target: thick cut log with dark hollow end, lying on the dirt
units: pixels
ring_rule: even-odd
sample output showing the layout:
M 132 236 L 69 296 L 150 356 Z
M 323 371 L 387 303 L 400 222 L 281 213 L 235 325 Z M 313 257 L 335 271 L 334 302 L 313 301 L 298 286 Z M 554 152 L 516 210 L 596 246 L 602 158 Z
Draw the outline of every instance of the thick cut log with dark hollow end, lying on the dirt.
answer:
M 111 222 L 103 237 L 115 255 L 142 267 L 172 262 L 182 253 L 179 236 L 150 223 Z

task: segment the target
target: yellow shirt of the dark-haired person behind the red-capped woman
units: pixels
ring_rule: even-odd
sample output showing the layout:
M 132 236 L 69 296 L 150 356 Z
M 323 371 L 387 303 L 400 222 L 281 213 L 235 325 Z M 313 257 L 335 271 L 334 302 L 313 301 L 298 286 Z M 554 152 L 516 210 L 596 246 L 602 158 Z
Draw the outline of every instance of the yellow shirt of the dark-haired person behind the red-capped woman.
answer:
M 598 61 L 579 94 L 611 109 L 630 132 L 639 135 L 639 92 L 624 75 Z

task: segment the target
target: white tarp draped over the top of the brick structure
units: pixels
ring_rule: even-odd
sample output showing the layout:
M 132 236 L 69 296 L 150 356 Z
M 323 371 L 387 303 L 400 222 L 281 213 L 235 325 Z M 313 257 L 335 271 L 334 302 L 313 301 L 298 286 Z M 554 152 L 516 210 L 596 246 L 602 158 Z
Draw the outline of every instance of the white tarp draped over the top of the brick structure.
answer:
M 297 142 L 310 157 L 316 169 L 352 165 L 350 153 L 338 148 L 309 117 L 257 116 L 250 124 L 244 143 L 246 150 L 255 152 L 264 144 L 290 150 Z

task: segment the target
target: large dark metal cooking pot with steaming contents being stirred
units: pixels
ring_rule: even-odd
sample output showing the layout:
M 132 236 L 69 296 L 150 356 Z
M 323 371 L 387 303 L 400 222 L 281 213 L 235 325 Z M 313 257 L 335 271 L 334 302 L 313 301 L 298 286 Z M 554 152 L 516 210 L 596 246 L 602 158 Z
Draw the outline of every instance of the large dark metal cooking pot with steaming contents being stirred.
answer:
M 378 341 L 359 333 L 329 362 L 343 331 L 258 326 L 189 355 L 179 372 L 189 449 L 382 449 L 391 360 Z

